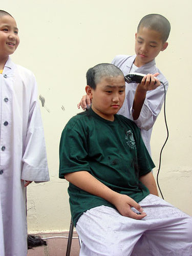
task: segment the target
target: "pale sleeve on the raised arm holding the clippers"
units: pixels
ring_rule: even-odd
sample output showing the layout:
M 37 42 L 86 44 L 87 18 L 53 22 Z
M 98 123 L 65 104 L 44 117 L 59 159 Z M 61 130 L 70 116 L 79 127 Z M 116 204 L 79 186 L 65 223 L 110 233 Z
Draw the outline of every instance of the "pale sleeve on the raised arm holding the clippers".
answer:
M 168 89 L 168 82 L 164 83 L 165 91 Z M 164 102 L 164 87 L 161 84 L 158 88 L 146 93 L 139 118 L 134 120 L 140 129 L 150 130 L 154 125 Z M 131 108 L 131 116 L 133 118 L 133 109 Z

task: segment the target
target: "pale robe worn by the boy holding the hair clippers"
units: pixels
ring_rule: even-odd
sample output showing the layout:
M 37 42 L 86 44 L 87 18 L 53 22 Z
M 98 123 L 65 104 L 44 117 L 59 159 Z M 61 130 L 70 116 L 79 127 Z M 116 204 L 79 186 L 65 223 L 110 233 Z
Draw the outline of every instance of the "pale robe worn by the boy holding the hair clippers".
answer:
M 130 73 L 135 57 L 136 55 L 134 56 L 118 55 L 113 59 L 112 64 L 120 68 L 125 76 Z M 142 73 L 142 74 L 148 74 L 148 73 L 155 74 L 158 72 L 159 75 L 157 76 L 157 78 L 164 83 L 165 91 L 167 91 L 168 82 L 166 78 L 163 76 L 163 74 L 161 73 L 161 71 L 156 67 L 155 59 L 149 63 L 146 63 L 142 67 L 136 69 L 135 72 Z M 132 120 L 133 120 L 132 106 L 133 106 L 136 88 L 137 88 L 137 83 L 126 83 L 125 100 L 122 105 L 122 108 L 118 112 L 118 114 L 121 114 Z M 161 111 L 163 102 L 164 102 L 164 88 L 163 88 L 163 85 L 161 84 L 161 86 L 159 86 L 157 89 L 148 91 L 146 93 L 146 98 L 144 100 L 140 116 L 137 120 L 134 120 L 134 122 L 138 125 L 138 127 L 141 130 L 142 139 L 150 154 L 151 154 L 150 139 L 151 139 L 152 129 Z

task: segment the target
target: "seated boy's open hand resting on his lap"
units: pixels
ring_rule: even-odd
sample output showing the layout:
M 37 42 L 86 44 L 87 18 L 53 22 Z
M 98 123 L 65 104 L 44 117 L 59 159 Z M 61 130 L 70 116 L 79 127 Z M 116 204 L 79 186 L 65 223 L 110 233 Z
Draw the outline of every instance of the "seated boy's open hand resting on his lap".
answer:
M 118 197 L 116 197 L 115 202 L 113 202 L 113 204 L 122 216 L 136 220 L 141 220 L 146 216 L 141 206 L 129 196 L 118 194 Z M 136 212 L 134 212 L 131 209 L 131 207 L 137 209 L 140 212 L 140 214 L 136 214 Z

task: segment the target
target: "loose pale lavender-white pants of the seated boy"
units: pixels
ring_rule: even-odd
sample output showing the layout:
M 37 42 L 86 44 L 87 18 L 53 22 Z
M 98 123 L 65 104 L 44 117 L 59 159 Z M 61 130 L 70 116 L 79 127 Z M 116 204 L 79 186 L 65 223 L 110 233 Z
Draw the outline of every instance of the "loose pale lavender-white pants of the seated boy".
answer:
M 116 209 L 87 210 L 76 224 L 80 256 L 192 256 L 192 218 L 159 197 L 139 202 L 142 220 L 123 217 Z

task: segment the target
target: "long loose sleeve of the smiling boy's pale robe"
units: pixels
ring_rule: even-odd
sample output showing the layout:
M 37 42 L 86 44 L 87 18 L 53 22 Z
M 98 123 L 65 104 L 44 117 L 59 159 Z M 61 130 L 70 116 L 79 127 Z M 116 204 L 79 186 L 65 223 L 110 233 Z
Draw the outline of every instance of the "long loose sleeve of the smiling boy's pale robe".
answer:
M 49 181 L 44 129 L 42 126 L 39 104 L 37 101 L 37 85 L 33 79 L 30 110 L 28 117 L 25 152 L 23 155 L 23 180 L 44 182 Z

